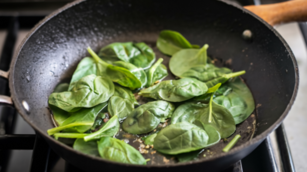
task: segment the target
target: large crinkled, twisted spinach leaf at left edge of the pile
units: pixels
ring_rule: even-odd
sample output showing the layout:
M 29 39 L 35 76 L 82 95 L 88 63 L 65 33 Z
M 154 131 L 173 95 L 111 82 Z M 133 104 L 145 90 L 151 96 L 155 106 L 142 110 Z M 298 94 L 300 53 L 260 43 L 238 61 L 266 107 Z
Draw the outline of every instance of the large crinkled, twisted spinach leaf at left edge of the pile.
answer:
M 109 78 L 91 74 L 78 80 L 70 92 L 52 93 L 48 103 L 74 112 L 81 107 L 93 107 L 106 102 L 113 94 L 114 84 Z

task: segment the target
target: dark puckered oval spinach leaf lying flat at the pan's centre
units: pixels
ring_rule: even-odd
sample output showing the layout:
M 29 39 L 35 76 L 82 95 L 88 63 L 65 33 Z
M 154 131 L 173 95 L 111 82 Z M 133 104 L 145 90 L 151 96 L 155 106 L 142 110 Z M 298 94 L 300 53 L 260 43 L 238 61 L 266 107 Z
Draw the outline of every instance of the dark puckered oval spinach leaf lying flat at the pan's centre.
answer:
M 148 133 L 160 122 L 170 118 L 175 110 L 172 103 L 157 100 L 134 109 L 122 123 L 122 129 L 132 134 Z

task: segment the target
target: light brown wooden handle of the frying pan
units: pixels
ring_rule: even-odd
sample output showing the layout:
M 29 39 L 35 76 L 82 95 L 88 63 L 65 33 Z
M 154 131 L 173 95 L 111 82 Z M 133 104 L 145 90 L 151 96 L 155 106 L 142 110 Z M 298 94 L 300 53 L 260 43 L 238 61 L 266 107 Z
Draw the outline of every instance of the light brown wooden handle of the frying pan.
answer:
M 270 25 L 291 21 L 307 21 L 307 0 L 292 0 L 260 6 L 244 6 Z

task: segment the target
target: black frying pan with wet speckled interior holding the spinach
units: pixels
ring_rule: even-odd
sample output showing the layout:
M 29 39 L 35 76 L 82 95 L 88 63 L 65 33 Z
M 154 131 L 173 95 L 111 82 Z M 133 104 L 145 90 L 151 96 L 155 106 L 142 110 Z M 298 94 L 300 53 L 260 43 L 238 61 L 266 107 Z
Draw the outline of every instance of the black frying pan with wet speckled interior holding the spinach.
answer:
M 227 143 L 221 141 L 207 149 L 207 156 L 200 160 L 158 161 L 140 166 L 85 155 L 47 135 L 47 129 L 54 127 L 48 97 L 57 84 L 69 80 L 78 62 L 88 56 L 86 47 L 97 52 L 116 41 L 144 41 L 168 66 L 169 57 L 155 47 L 163 29 L 178 31 L 193 44 L 208 43 L 211 58 L 225 62 L 234 71 L 246 70 L 242 78 L 251 89 L 256 109 L 237 125 L 236 133 L 242 139 L 234 148 L 222 152 Z M 242 37 L 245 30 L 252 33 L 249 39 Z M 13 101 L 25 121 L 58 155 L 86 171 L 223 170 L 248 155 L 281 124 L 298 88 L 297 62 L 285 40 L 254 13 L 223 0 L 72 2 L 31 30 L 14 54 L 9 73 L 1 71 L 0 75 L 9 77 L 11 92 L 11 99 L 1 96 L 2 102 Z

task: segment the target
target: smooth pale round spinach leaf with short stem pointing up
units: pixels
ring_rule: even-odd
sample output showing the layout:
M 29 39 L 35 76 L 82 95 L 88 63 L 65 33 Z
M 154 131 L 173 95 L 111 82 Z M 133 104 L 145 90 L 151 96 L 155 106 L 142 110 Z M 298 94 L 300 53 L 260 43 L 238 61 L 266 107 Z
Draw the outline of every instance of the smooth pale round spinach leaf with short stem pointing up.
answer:
M 187 72 L 193 67 L 204 66 L 205 69 L 214 67 L 212 64 L 207 64 L 208 44 L 205 44 L 200 49 L 183 49 L 178 51 L 169 60 L 169 69 L 177 77 Z

